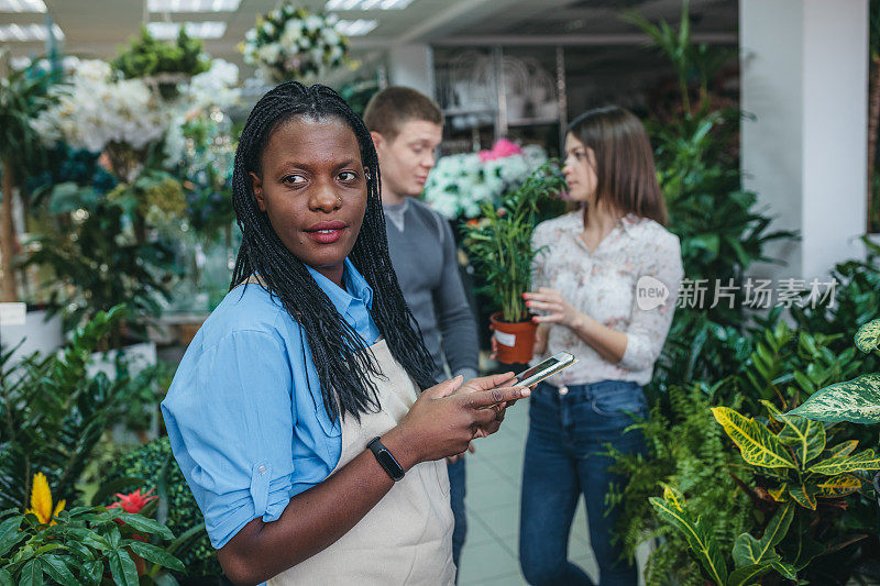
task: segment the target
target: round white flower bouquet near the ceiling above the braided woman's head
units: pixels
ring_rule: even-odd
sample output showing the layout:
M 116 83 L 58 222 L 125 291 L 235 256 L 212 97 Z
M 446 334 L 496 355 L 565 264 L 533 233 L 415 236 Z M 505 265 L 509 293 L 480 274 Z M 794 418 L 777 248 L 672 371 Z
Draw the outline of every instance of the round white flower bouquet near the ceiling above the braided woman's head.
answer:
M 285 4 L 257 16 L 239 48 L 244 63 L 256 67 L 266 81 L 314 81 L 348 65 L 349 41 L 336 29 L 334 14 L 312 14 Z

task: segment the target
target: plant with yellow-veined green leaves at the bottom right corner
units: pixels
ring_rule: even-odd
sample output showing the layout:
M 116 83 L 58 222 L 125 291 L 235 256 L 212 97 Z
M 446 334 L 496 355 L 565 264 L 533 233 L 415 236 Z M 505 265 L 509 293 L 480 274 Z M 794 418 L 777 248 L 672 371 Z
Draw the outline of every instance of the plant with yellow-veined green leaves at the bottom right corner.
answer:
M 650 498 L 659 518 L 684 537 L 703 576 L 718 586 L 755 584 L 771 570 L 798 581 L 802 572 L 810 575 L 807 566 L 818 556 L 833 554 L 866 537 L 847 535 L 836 543 L 816 539 L 820 530 L 827 529 L 823 526 L 828 524 L 823 523 L 823 515 L 817 510 L 846 509 L 844 498 L 861 488 L 864 478 L 859 474 L 880 469 L 880 457 L 870 449 L 853 454 L 855 440 L 828 447 L 822 424 L 782 414 L 769 401 L 763 402 L 771 414 L 767 423 L 727 407 L 712 409 L 751 467 L 758 486 L 749 488 L 739 478 L 737 483 L 763 515 L 776 511 L 761 539 L 750 533 L 739 534 L 727 556 L 714 523 L 704 517 L 710 510 L 686 507 L 682 494 L 669 485 L 664 486 L 662 499 Z M 715 515 L 712 511 L 713 518 Z M 789 531 L 790 527 L 794 529 Z

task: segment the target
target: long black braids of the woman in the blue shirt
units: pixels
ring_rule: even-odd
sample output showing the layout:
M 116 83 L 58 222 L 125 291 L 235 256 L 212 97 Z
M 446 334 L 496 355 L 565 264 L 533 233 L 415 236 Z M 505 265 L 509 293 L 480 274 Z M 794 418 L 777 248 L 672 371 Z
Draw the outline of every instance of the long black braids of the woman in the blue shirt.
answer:
M 336 91 L 322 85 L 296 81 L 266 92 L 244 124 L 232 174 L 232 200 L 242 231 L 230 289 L 258 274 L 268 291 L 305 330 L 318 372 L 324 408 L 332 421 L 378 410 L 377 389 L 367 376 L 382 376 L 369 347 L 333 307 L 305 264 L 282 243 L 268 217 L 260 211 L 250 173 L 261 173 L 261 156 L 270 136 L 293 118 L 334 118 L 348 124 L 358 140 L 366 176 L 366 212 L 349 258 L 373 288 L 373 321 L 394 358 L 421 388 L 433 385 L 433 361 L 421 332 L 404 301 L 392 268 L 385 217 L 380 196 L 378 157 L 363 121 Z

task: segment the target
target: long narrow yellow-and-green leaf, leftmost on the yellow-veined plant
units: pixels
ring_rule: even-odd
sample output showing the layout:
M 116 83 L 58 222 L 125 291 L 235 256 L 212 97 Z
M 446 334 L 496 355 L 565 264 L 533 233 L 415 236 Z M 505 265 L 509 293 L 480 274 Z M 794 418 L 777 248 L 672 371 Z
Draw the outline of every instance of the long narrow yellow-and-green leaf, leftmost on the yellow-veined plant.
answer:
M 727 584 L 727 564 L 721 554 L 718 544 L 712 531 L 697 518 L 691 518 L 684 508 L 684 497 L 670 486 L 663 487 L 663 498 L 650 497 L 648 499 L 661 519 L 672 523 L 688 540 L 691 552 L 697 559 L 708 578 L 717 586 Z

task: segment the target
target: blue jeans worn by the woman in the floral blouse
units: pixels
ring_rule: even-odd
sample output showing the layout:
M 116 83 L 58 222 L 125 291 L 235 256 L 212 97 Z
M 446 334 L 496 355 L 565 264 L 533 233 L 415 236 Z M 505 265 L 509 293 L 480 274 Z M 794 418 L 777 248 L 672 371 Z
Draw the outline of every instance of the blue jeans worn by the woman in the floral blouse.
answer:
M 541 383 L 531 395 L 529 434 L 522 466 L 519 563 L 529 584 L 592 585 L 568 560 L 569 531 L 581 494 L 586 504 L 590 542 L 602 586 L 637 584 L 636 567 L 620 560 L 612 544 L 615 509 L 605 506 L 612 482 L 612 458 L 601 455 L 612 444 L 626 453 L 644 451 L 638 431 L 624 432 L 634 413 L 647 417 L 639 385 L 602 380 L 554 387 Z

